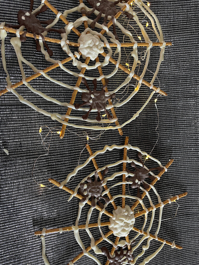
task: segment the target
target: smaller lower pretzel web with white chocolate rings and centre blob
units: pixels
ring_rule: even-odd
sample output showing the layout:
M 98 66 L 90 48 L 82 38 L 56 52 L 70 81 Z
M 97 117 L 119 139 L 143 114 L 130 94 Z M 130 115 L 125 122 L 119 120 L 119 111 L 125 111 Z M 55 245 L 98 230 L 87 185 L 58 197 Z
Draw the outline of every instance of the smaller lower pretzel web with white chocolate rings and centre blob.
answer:
M 57 229 L 48 229 L 48 230 L 44 228 L 42 231 L 35 232 L 35 235 L 42 235 L 41 238 L 42 238 L 43 247 L 45 247 L 44 236 L 47 233 L 56 233 L 56 232 L 62 233 L 64 231 L 73 231 L 75 239 L 83 251 L 79 253 L 75 258 L 73 258 L 70 262 L 68 262 L 68 265 L 74 264 L 75 262 L 77 262 L 77 260 L 79 260 L 84 255 L 93 259 L 98 265 L 101 265 L 102 263 L 97 258 L 98 256 L 96 257 L 96 255 L 91 254 L 89 252 L 90 250 L 93 250 L 94 253 L 97 255 L 105 255 L 107 257 L 107 261 L 105 263 L 106 265 L 108 265 L 109 263 L 110 265 L 114 265 L 114 264 L 115 265 L 116 264 L 117 265 L 118 264 L 134 265 L 135 263 L 138 264 L 137 262 L 139 261 L 139 259 L 142 258 L 142 256 L 145 254 L 145 251 L 150 248 L 150 241 L 152 240 L 156 240 L 158 242 L 161 242 L 162 244 L 156 251 L 154 251 L 154 253 L 146 257 L 140 264 L 148 263 L 152 258 L 154 258 L 158 254 L 158 252 L 163 248 L 165 244 L 170 245 L 172 248 L 182 249 L 181 246 L 175 244 L 175 241 L 169 242 L 165 239 L 158 237 L 158 232 L 159 232 L 160 225 L 161 225 L 163 206 L 187 195 L 187 193 L 183 193 L 175 197 L 172 197 L 170 199 L 167 199 L 166 201 L 161 201 L 161 198 L 158 195 L 158 192 L 154 187 L 154 184 L 160 179 L 161 175 L 172 164 L 173 160 L 170 160 L 168 164 L 165 167 L 163 167 L 157 159 L 149 156 L 145 152 L 142 152 L 139 148 L 133 147 L 130 144 L 128 144 L 128 137 L 126 137 L 124 145 L 121 145 L 121 146 L 117 146 L 117 145 L 107 146 L 106 145 L 102 150 L 99 150 L 95 152 L 94 154 L 92 153 L 92 150 L 90 149 L 89 145 L 87 145 L 86 148 L 90 154 L 90 157 L 84 162 L 84 164 L 77 166 L 72 173 L 68 174 L 66 180 L 64 180 L 62 183 L 59 183 L 54 179 L 49 179 L 51 183 L 55 184 L 59 188 L 62 188 L 71 194 L 69 200 L 71 200 L 74 196 L 76 196 L 77 198 L 80 199 L 80 202 L 79 202 L 79 210 L 77 214 L 77 219 L 76 219 L 74 226 L 57 228 Z M 121 149 L 124 150 L 122 160 L 116 161 L 113 164 L 105 164 L 103 167 L 98 167 L 97 162 L 96 162 L 96 158 L 98 155 L 103 154 L 103 156 L 105 156 L 107 151 L 115 152 Z M 129 181 L 127 181 L 126 178 L 128 177 L 132 178 L 133 174 L 128 173 L 126 169 L 129 168 L 129 164 L 131 162 L 135 163 L 137 167 L 142 166 L 142 163 L 134 159 L 130 159 L 127 156 L 127 152 L 129 152 L 129 150 L 137 151 L 144 156 L 148 156 L 151 160 L 157 162 L 158 165 L 161 166 L 162 168 L 162 170 L 160 171 L 158 175 L 155 175 L 152 172 L 154 169 L 151 169 L 152 171 L 150 171 L 150 175 L 154 177 L 154 180 L 150 184 L 146 182 L 148 183 L 148 188 L 146 189 L 140 186 L 140 190 L 142 191 L 141 198 L 127 194 L 126 184 L 129 184 Z M 73 178 L 73 176 L 75 176 L 78 171 L 80 171 L 81 169 L 85 170 L 85 166 L 88 165 L 90 161 L 93 162 L 93 165 L 96 170 L 93 171 L 88 176 L 86 176 L 84 179 L 82 179 L 74 191 L 66 187 L 65 184 L 67 184 L 68 181 L 71 178 Z M 123 170 L 117 172 L 116 170 L 117 165 L 123 165 Z M 150 170 L 150 168 L 148 169 L 146 166 L 144 167 L 146 170 L 148 171 Z M 114 172 L 110 176 L 107 175 L 107 172 L 109 169 L 113 170 Z M 96 174 L 98 174 L 99 179 L 100 179 L 98 183 L 96 183 Z M 95 175 L 95 180 L 92 182 L 91 178 L 93 175 Z M 134 176 L 135 178 L 137 178 L 137 175 L 134 175 Z M 113 181 L 114 181 L 114 184 L 113 184 Z M 117 191 L 119 191 L 119 186 L 121 187 L 121 185 L 122 185 L 122 193 L 121 194 L 117 193 L 116 195 L 111 196 L 112 189 L 114 187 L 117 187 Z M 103 192 L 99 195 L 99 193 L 102 191 L 101 187 L 103 187 Z M 78 190 L 80 191 L 81 194 L 78 193 Z M 158 204 L 153 204 L 153 201 L 152 201 L 153 199 L 149 194 L 150 190 L 152 190 L 155 193 L 155 196 L 158 199 Z M 91 196 L 93 196 L 94 191 L 96 192 L 96 195 L 94 196 L 95 198 L 93 201 L 93 197 L 92 197 L 92 200 L 90 200 L 90 198 Z M 103 197 L 106 195 L 107 197 Z M 145 206 L 145 203 L 146 203 L 144 199 L 145 197 L 148 198 L 150 207 Z M 100 206 L 99 204 L 97 204 L 98 198 L 101 198 Z M 118 200 L 117 200 L 118 198 L 122 198 L 121 204 L 118 203 Z M 130 203 L 132 205 L 129 205 L 129 198 L 133 200 L 132 203 L 130 200 Z M 102 201 L 105 202 L 105 204 L 102 204 Z M 81 213 L 86 204 L 91 206 L 88 209 L 86 223 L 83 225 L 79 225 Z M 108 208 L 107 206 L 109 204 L 112 204 L 112 209 L 113 209 L 112 212 L 110 210 L 109 211 L 107 210 Z M 137 208 L 138 205 L 139 205 L 139 208 Z M 153 226 L 154 216 L 155 216 L 156 209 L 158 208 L 159 208 L 159 222 L 158 222 L 158 227 L 156 229 L 156 232 L 153 235 L 150 233 L 150 230 L 154 227 Z M 94 209 L 97 209 L 99 211 L 98 220 L 96 223 L 90 223 L 90 218 L 92 217 L 92 212 Z M 111 208 L 109 207 L 109 209 Z M 140 209 L 143 209 L 143 210 L 140 210 Z M 148 226 L 147 219 L 149 219 L 148 218 L 149 212 L 152 212 L 152 215 L 151 215 L 150 223 Z M 102 222 L 101 218 L 103 215 L 107 216 L 109 218 L 109 221 L 106 220 L 106 222 Z M 144 215 L 144 224 L 142 225 L 141 229 L 138 229 L 136 228 L 136 220 L 138 217 L 143 216 L 143 215 Z M 148 229 L 145 228 L 146 225 L 148 226 Z M 105 234 L 102 231 L 103 227 L 107 227 L 108 229 L 108 232 L 106 232 Z M 91 231 L 89 230 L 90 228 L 93 228 L 93 229 L 98 228 L 101 233 L 101 237 L 95 240 L 91 232 L 92 230 Z M 86 230 L 90 238 L 91 243 L 90 243 L 90 246 L 87 248 L 84 245 L 83 238 L 80 238 L 79 232 L 82 229 Z M 131 233 L 132 231 L 133 233 L 136 233 L 135 236 L 132 236 L 132 233 Z M 109 239 L 110 236 L 111 238 Z M 141 239 L 138 238 L 140 236 L 141 236 Z M 86 239 L 84 238 L 84 240 Z M 144 240 L 147 240 L 146 245 L 143 245 Z M 101 243 L 100 245 L 103 245 L 101 248 L 98 248 L 99 243 Z M 125 250 L 126 245 L 127 245 L 127 250 Z M 140 245 L 142 246 L 142 250 L 139 254 L 135 255 L 137 248 Z M 108 247 L 110 248 L 110 246 L 112 247 L 112 249 L 109 252 Z M 117 251 L 116 249 L 118 247 L 120 247 L 120 251 L 116 252 Z M 45 251 L 42 251 L 42 257 L 44 259 L 47 259 L 46 254 L 44 252 Z M 49 264 L 49 263 L 46 263 L 46 264 Z

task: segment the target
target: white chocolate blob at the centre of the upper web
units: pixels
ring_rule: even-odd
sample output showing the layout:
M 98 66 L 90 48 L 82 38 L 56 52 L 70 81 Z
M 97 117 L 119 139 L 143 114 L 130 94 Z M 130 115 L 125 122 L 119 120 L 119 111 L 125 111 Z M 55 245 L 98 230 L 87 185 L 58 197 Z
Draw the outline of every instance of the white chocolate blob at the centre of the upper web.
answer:
M 94 61 L 98 54 L 104 52 L 103 50 L 103 42 L 99 39 L 98 36 L 93 36 L 92 34 L 81 34 L 78 39 L 79 52 L 81 52 L 81 56 L 86 59 L 90 57 L 92 61 Z

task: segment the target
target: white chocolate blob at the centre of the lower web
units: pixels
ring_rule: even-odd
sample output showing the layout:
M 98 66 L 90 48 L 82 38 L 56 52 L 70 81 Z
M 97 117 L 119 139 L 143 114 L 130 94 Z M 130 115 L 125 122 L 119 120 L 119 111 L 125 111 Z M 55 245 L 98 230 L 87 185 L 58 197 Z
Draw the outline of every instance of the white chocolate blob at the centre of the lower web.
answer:
M 135 223 L 134 211 L 128 205 L 124 208 L 118 206 L 116 210 L 113 210 L 113 218 L 109 220 L 109 229 L 115 236 L 128 236 Z

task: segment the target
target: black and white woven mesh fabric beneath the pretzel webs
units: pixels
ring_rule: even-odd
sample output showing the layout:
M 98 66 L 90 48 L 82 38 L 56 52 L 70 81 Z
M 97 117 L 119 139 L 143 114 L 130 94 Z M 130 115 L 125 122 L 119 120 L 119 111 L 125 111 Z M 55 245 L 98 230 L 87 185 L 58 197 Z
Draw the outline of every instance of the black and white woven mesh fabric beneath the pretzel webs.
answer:
M 60 12 L 77 5 L 77 0 L 51 0 Z M 7 1 L 0 0 L 1 22 L 16 24 L 17 12 L 20 9 L 29 9 L 28 0 Z M 35 1 L 35 7 L 41 2 Z M 176 244 L 183 246 L 182 250 L 171 249 L 165 245 L 162 251 L 150 261 L 149 264 L 183 265 L 198 264 L 198 155 L 196 146 L 198 144 L 198 95 L 197 84 L 198 56 L 197 56 L 197 1 L 170 1 L 152 0 L 151 9 L 157 15 L 165 36 L 165 41 L 171 41 L 172 47 L 166 47 L 165 60 L 161 65 L 158 77 L 161 88 L 168 93 L 167 97 L 159 97 L 157 101 L 159 111 L 160 134 L 158 144 L 152 152 L 152 156 L 158 158 L 166 165 L 170 158 L 174 163 L 167 173 L 155 184 L 162 200 L 176 194 L 188 192 L 188 196 L 180 199 L 177 216 L 174 219 L 162 222 L 159 236 L 168 241 L 175 240 Z M 47 19 L 54 17 L 51 11 L 47 11 Z M 75 15 L 74 15 L 75 16 Z M 42 17 L 42 15 L 41 15 Z M 48 18 L 49 17 L 49 18 Z M 44 17 L 45 18 L 45 17 Z M 71 17 L 76 19 L 76 17 Z M 62 27 L 63 23 L 60 22 Z M 16 83 L 21 80 L 21 75 L 8 34 L 6 40 L 6 54 L 10 60 L 8 70 L 11 80 Z M 33 57 L 35 65 L 40 68 L 46 67 L 46 62 L 41 59 L 42 54 L 35 51 L 34 41 L 27 38 L 22 47 L 27 59 Z M 53 46 L 51 46 L 53 47 Z M 157 57 L 154 55 L 154 64 L 157 65 Z M 58 56 L 54 55 L 55 59 Z M 62 54 L 64 56 L 64 54 Z M 65 55 L 66 56 L 66 55 Z M 64 58 L 64 57 L 63 57 Z M 1 89 L 5 88 L 5 73 L 1 62 Z M 27 76 L 32 72 L 26 69 Z M 52 77 L 57 77 L 57 68 Z M 150 74 L 148 73 L 150 78 Z M 147 77 L 146 77 L 147 78 Z M 44 80 L 44 79 L 43 79 Z M 49 82 L 40 83 L 41 79 L 32 81 L 35 86 L 40 86 L 49 95 L 54 95 Z M 71 79 L 73 84 L 76 80 Z M 115 80 L 117 82 L 117 80 Z M 54 85 L 53 89 L 60 97 L 63 95 L 70 98 L 71 91 Z M 60 90 L 59 90 L 60 89 Z M 143 91 L 148 91 L 143 86 Z M 18 89 L 26 99 L 31 99 L 37 104 L 44 104 L 41 99 L 32 96 L 23 86 Z M 57 94 L 56 94 L 57 95 Z M 143 93 L 143 97 L 144 97 Z M 137 98 L 139 100 L 139 98 Z M 45 103 L 46 108 L 51 109 L 51 103 Z M 133 108 L 135 101 L 128 103 L 128 108 Z M 38 134 L 40 126 L 60 126 L 58 122 L 35 112 L 26 105 L 21 104 L 11 93 L 0 97 L 1 123 L 0 123 L 0 174 L 1 174 L 1 256 L 0 264 L 44 264 L 41 257 L 41 240 L 34 236 L 34 231 L 46 228 L 57 228 L 74 224 L 78 200 L 74 198 L 67 202 L 69 195 L 57 187 L 53 189 L 39 188 L 31 178 L 31 171 L 35 159 L 40 154 L 45 154 Z M 127 107 L 127 106 L 126 106 Z M 117 109 L 120 121 L 125 119 L 127 113 L 125 108 Z M 124 135 L 120 136 L 118 131 L 106 131 L 98 141 L 90 140 L 92 151 L 102 149 L 108 144 L 124 144 L 125 136 L 129 136 L 129 143 L 140 147 L 143 151 L 150 152 L 153 148 L 157 134 L 157 111 L 154 98 L 145 110 L 134 121 L 123 128 Z M 83 130 L 69 128 L 72 132 L 66 132 L 64 139 L 53 135 L 50 152 L 47 156 L 39 159 L 34 171 L 36 180 L 49 185 L 48 178 L 62 181 L 78 163 L 79 154 L 85 147 L 86 140 L 76 136 L 74 132 L 82 134 Z M 96 132 L 87 131 L 91 136 Z M 3 152 L 8 149 L 9 155 Z M 116 154 L 110 154 L 110 160 L 114 161 Z M 122 152 L 118 152 L 118 157 Z M 80 163 L 88 158 L 86 150 L 83 151 Z M 106 159 L 106 158 L 105 158 Z M 103 165 L 103 156 L 97 162 Z M 94 170 L 94 167 L 88 169 Z M 75 188 L 87 172 L 82 172 L 69 184 Z M 115 190 L 114 192 L 117 192 Z M 163 218 L 172 217 L 175 214 L 176 204 L 165 206 Z M 97 212 L 94 212 L 94 217 Z M 81 219 L 82 223 L 85 220 Z M 93 219 L 94 220 L 94 219 Z M 140 220 L 141 222 L 142 220 Z M 139 222 L 139 221 L 138 221 Z M 93 229 L 94 231 L 94 229 Z M 97 230 L 96 230 L 97 231 Z M 105 230 L 104 230 L 105 231 Z M 85 232 L 82 232 L 84 236 Z M 85 235 L 86 236 L 86 235 Z M 99 237 L 99 232 L 95 233 Z M 157 242 L 152 243 L 152 252 L 157 249 Z M 86 247 L 89 245 L 86 245 Z M 102 246 L 102 245 L 99 245 Z M 51 265 L 67 264 L 81 251 L 77 245 L 73 232 L 52 234 L 46 236 L 46 254 Z M 148 252 L 150 254 L 150 251 Z M 77 264 L 94 264 L 88 257 L 82 257 Z

